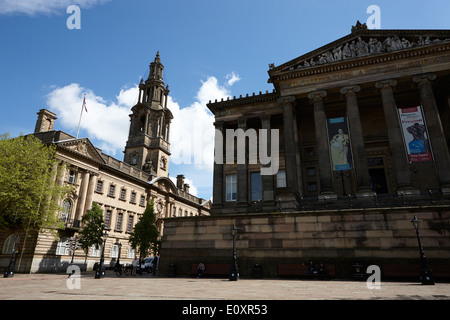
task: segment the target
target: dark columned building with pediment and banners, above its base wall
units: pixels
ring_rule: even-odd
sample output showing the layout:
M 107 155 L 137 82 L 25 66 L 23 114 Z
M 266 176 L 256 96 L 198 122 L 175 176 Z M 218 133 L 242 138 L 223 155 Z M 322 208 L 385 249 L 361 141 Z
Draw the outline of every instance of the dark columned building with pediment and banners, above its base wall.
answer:
M 261 175 L 248 156 L 215 163 L 213 214 L 449 194 L 449 52 L 448 30 L 358 23 L 343 38 L 269 65 L 273 92 L 210 102 L 223 137 L 238 128 L 279 132 L 275 175 Z

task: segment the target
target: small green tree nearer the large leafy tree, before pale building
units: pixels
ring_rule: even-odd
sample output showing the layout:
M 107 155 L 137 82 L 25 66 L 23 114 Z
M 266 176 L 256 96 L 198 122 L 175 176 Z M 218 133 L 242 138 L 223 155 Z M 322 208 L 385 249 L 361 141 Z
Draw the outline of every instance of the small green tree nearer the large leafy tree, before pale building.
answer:
M 103 244 L 103 231 L 105 225 L 103 223 L 103 210 L 97 203 L 92 203 L 90 210 L 86 211 L 83 218 L 83 229 L 80 231 L 78 242 L 86 253 L 85 260 L 92 246 L 100 247 Z

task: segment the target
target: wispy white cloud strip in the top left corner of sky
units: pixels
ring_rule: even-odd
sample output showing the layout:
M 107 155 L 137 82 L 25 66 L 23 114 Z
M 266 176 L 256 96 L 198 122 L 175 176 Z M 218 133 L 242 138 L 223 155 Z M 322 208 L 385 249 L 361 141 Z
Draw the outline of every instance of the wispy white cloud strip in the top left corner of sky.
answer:
M 0 14 L 65 14 L 67 7 L 73 4 L 81 9 L 88 9 L 108 1 L 110 0 L 2 0 Z

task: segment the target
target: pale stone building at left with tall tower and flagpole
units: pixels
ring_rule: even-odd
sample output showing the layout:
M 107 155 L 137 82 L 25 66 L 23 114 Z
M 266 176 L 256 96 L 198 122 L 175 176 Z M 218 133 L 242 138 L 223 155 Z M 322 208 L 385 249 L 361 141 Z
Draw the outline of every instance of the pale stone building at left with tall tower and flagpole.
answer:
M 16 271 L 65 271 L 72 258 L 66 242 L 77 236 L 82 217 L 92 207 L 101 206 L 105 229 L 108 233 L 105 246 L 105 264 L 109 266 L 119 258 L 121 263 L 131 263 L 136 252 L 128 243 L 130 232 L 138 222 L 147 204 L 153 200 L 160 235 L 164 233 L 164 218 L 209 215 L 210 201 L 192 195 L 184 175 L 169 178 L 169 128 L 173 118 L 167 108 L 169 94 L 164 86 L 163 65 L 159 53 L 150 64 L 147 80 L 139 85 L 138 103 L 131 109 L 130 131 L 125 146 L 124 160 L 118 160 L 95 147 L 88 138 L 76 138 L 66 132 L 54 130 L 57 115 L 42 109 L 34 136 L 45 144 L 56 145 L 57 158 L 66 165 L 66 171 L 56 177 L 58 184 L 68 184 L 74 191 L 62 200 L 60 219 L 65 228 L 58 230 L 59 239 L 45 231 L 34 233 L 20 266 L 16 258 Z M 0 233 L 0 263 L 8 266 L 14 239 L 19 235 L 22 251 L 23 234 L 16 231 Z M 101 248 L 91 248 L 85 253 L 75 251 L 74 262 L 92 269 L 99 262 Z

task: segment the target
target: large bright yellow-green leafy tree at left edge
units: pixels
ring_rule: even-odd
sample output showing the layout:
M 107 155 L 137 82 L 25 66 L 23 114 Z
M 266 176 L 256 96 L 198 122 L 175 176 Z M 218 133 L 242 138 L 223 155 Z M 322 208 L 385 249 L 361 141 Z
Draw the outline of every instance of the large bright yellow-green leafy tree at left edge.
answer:
M 63 170 L 56 146 L 32 135 L 0 135 L 0 228 L 25 231 L 19 266 L 30 232 L 64 228 L 59 203 L 72 189 L 56 183 Z

